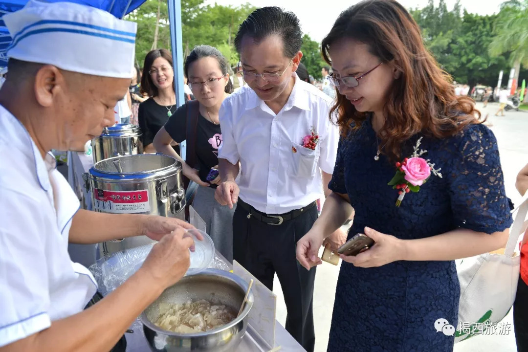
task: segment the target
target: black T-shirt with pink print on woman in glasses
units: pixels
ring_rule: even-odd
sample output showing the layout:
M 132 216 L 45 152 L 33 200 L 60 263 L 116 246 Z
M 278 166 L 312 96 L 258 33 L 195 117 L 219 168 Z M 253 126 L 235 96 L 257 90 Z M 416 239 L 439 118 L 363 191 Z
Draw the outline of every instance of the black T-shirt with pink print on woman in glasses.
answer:
M 165 124 L 165 130 L 175 142 L 181 143 L 187 138 L 187 104 L 178 108 L 169 118 Z M 200 114 L 196 126 L 195 143 L 197 165 L 194 165 L 194 168 L 199 170 L 200 179 L 209 183 L 207 175 L 213 166 L 218 165 L 218 148 L 222 144 L 220 125 L 215 125 Z

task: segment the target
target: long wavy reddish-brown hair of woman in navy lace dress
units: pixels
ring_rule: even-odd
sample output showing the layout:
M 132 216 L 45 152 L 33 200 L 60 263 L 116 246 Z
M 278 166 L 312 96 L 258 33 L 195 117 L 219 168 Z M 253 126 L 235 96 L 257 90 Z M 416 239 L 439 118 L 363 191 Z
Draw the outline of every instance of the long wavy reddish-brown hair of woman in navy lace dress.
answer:
M 366 0 L 343 11 L 322 42 L 327 63 L 332 64 L 329 48 L 341 39 L 367 44 L 373 55 L 402 72 L 388 93 L 386 118 L 379 131 L 380 146 L 389 159 L 398 159 L 403 143 L 418 133 L 446 138 L 467 125 L 481 123 L 473 99 L 455 96 L 450 75 L 423 45 L 417 23 L 398 2 Z M 331 119 L 336 112 L 343 136 L 352 124 L 359 128 L 369 116 L 357 111 L 339 92 Z

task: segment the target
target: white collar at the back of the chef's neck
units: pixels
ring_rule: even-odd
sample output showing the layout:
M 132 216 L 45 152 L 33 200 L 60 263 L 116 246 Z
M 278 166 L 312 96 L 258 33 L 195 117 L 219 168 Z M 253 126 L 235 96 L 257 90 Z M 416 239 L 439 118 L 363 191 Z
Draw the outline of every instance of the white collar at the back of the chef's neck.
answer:
M 14 148 L 23 151 L 31 163 L 35 166 L 35 175 L 39 181 L 40 186 L 44 191 L 48 191 L 51 187 L 49 170 L 55 168 L 55 158 L 51 153 L 46 154 L 45 160 L 40 155 L 39 148 L 31 138 L 27 129 L 22 125 L 13 114 L 6 108 L 0 105 L 0 116 L 2 116 L 2 125 L 5 125 L 5 132 L 7 132 L 7 140 L 11 141 Z M 46 165 L 47 164 L 47 165 Z

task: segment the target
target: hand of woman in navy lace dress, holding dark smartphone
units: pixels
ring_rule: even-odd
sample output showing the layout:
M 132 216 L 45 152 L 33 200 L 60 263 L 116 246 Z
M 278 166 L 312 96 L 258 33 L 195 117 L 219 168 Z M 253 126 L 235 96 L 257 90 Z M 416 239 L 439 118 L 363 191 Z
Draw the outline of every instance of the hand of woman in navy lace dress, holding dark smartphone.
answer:
M 365 227 L 365 235 L 374 240 L 374 245 L 370 249 L 355 256 L 340 254 L 340 258 L 360 268 L 381 267 L 398 260 L 404 260 L 406 256 L 404 240 L 372 230 L 370 227 Z

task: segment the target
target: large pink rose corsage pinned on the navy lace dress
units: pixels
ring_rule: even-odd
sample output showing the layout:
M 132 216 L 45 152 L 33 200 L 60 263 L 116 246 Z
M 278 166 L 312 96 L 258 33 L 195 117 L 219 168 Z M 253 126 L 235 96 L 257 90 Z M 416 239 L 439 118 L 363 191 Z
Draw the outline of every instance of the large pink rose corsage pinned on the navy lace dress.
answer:
M 396 163 L 396 174 L 388 183 L 393 189 L 399 189 L 396 206 L 400 206 L 403 197 L 409 192 L 419 192 L 420 186 L 425 184 L 431 174 L 442 178 L 440 168 L 435 169 L 435 164 L 431 164 L 429 159 L 421 158 L 427 150 L 420 149 L 422 137 L 416 142 L 414 152 L 410 158 Z

